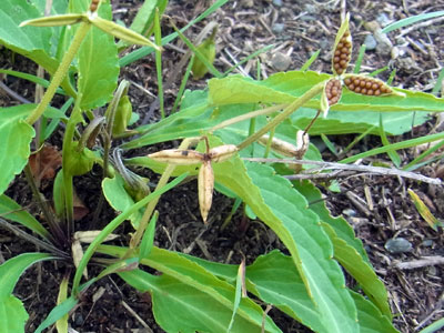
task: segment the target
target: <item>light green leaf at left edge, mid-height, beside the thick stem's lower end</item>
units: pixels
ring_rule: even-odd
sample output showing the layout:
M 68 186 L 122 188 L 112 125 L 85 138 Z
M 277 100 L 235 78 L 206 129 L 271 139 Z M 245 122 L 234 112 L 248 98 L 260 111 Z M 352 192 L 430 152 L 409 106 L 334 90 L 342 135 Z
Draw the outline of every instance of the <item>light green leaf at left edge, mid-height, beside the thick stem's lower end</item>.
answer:
M 34 130 L 22 120 L 23 110 L 19 105 L 0 109 L 0 194 L 2 194 L 16 174 L 20 173 L 28 162 Z

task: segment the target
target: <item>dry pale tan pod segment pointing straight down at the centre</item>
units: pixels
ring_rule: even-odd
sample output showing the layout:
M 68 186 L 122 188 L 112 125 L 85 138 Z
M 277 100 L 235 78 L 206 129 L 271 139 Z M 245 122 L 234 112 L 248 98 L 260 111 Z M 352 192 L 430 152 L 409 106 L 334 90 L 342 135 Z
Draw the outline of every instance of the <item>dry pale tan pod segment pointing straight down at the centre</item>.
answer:
M 211 209 L 211 203 L 213 202 L 214 190 L 214 173 L 210 160 L 204 161 L 201 165 L 201 169 L 199 170 L 198 189 L 201 216 L 203 222 L 206 223 L 206 218 Z

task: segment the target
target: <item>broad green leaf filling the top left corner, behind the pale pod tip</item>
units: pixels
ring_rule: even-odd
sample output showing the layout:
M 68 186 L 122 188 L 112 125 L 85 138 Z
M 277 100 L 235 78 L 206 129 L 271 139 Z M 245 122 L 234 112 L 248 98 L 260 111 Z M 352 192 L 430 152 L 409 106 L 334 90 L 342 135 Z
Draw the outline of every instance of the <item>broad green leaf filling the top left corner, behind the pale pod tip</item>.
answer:
M 60 1 L 56 1 L 60 2 Z M 59 65 L 56 59 L 60 28 L 22 27 L 20 23 L 43 16 L 43 12 L 27 0 L 2 0 L 0 7 L 0 43 L 42 65 L 53 74 Z M 61 10 L 60 6 L 57 6 Z M 67 93 L 74 95 L 68 79 L 62 83 Z

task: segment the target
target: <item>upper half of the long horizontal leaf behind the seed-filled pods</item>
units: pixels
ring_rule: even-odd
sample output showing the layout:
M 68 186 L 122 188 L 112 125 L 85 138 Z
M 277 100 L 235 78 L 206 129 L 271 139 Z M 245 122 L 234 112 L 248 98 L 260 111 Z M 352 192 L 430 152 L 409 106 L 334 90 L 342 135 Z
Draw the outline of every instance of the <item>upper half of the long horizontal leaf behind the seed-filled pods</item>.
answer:
M 263 81 L 254 81 L 241 75 L 209 81 L 210 101 L 213 105 L 236 103 L 291 103 L 313 85 L 332 78 L 312 71 L 290 71 L 276 73 Z M 444 99 L 424 92 L 394 89 L 404 97 L 366 97 L 344 89 L 341 101 L 331 111 L 430 111 L 441 112 Z M 320 99 L 305 107 L 319 110 Z

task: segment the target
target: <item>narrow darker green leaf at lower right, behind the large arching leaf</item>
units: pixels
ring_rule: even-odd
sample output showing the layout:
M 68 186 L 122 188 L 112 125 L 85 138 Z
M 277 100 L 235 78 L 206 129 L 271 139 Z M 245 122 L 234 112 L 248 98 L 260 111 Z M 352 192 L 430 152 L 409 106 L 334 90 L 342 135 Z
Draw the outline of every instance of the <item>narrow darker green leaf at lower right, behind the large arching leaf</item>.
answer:
M 392 319 L 387 291 L 372 266 L 363 260 L 355 249 L 340 239 L 332 226 L 327 223 L 323 223 L 322 225 L 333 243 L 334 258 L 360 283 L 365 294 L 380 311 L 389 319 Z

